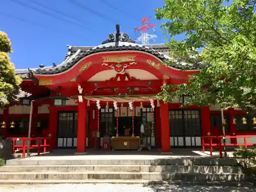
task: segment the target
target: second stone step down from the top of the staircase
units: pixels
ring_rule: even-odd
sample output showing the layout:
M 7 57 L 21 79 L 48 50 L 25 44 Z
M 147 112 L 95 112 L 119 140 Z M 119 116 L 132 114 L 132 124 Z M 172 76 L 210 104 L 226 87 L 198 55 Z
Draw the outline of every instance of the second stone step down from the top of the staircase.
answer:
M 170 172 L 170 173 L 242 173 L 240 166 L 199 165 L 7 165 L 1 172 Z

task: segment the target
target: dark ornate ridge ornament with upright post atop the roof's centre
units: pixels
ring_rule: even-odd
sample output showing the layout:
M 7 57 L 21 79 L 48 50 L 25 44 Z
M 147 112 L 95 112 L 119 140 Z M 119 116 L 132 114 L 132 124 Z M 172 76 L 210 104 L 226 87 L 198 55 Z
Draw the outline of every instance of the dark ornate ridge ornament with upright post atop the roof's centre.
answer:
M 135 43 L 135 41 L 132 40 L 127 33 L 120 32 L 120 25 L 116 25 L 116 32 L 110 34 L 108 36 L 108 39 L 106 39 L 102 42 L 102 45 L 103 44 L 108 44 L 109 42 L 116 42 L 115 46 L 118 46 L 119 41 Z

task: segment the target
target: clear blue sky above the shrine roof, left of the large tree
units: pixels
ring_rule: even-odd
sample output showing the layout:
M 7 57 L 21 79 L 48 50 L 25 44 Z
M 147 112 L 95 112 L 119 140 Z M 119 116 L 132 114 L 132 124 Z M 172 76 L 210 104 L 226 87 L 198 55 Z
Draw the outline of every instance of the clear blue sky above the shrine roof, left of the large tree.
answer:
M 10 57 L 16 69 L 35 68 L 40 63 L 45 66 L 51 66 L 52 62 L 59 64 L 68 52 L 66 45 L 100 45 L 115 32 L 116 24 L 135 39 L 134 28 L 141 25 L 140 18 L 144 16 L 151 16 L 149 23 L 156 24 L 156 43 L 165 42 L 161 21 L 154 18 L 154 9 L 161 7 L 164 0 L 104 1 L 112 7 L 103 0 L 2 1 L 1 5 L 6 9 L 0 11 L 0 31 L 6 32 L 11 39 L 13 53 Z M 61 13 L 46 9 L 46 6 Z

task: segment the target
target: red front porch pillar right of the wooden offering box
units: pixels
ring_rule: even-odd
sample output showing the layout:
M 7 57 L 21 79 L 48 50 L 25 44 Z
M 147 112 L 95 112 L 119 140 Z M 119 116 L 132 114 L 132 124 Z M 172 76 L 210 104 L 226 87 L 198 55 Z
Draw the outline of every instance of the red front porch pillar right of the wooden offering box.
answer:
M 160 106 L 161 117 L 161 137 L 162 137 L 162 152 L 170 152 L 170 127 L 168 104 L 161 101 Z

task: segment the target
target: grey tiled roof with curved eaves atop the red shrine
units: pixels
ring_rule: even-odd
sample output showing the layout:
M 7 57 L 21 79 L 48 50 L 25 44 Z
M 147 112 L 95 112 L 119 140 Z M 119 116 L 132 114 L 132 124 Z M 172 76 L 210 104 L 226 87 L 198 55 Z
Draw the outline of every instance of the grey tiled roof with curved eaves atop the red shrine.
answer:
M 36 69 L 28 70 L 16 70 L 16 74 L 23 77 L 29 78 L 31 73 L 35 74 L 56 74 L 61 73 L 70 69 L 74 66 L 80 59 L 94 53 L 108 52 L 108 51 L 126 51 L 135 50 L 141 52 L 151 53 L 162 61 L 170 59 L 168 56 L 168 48 L 164 44 L 148 44 L 139 45 L 135 44 L 133 40 L 125 33 L 120 33 L 119 41 L 115 41 L 115 34 L 109 35 L 108 39 L 102 42 L 100 46 L 68 46 L 69 52 L 66 54 L 65 60 L 59 65 L 44 67 L 40 65 Z M 176 63 L 173 68 L 177 69 L 187 69 L 195 70 L 202 69 L 206 67 L 203 63 L 198 63 L 197 65 L 191 65 L 184 62 Z

